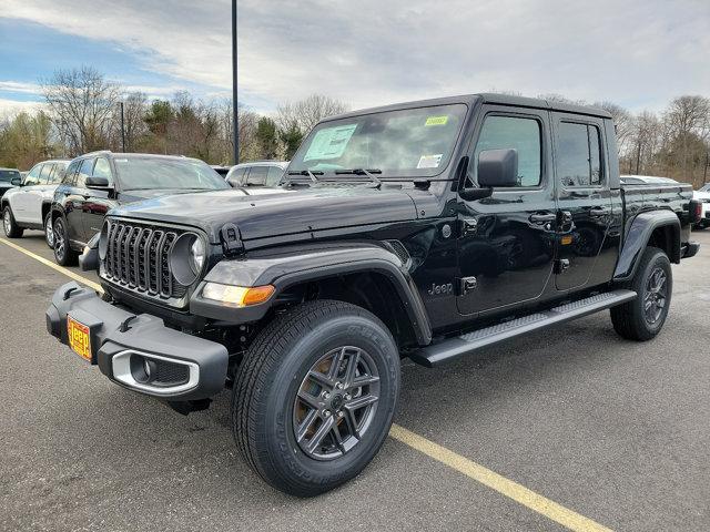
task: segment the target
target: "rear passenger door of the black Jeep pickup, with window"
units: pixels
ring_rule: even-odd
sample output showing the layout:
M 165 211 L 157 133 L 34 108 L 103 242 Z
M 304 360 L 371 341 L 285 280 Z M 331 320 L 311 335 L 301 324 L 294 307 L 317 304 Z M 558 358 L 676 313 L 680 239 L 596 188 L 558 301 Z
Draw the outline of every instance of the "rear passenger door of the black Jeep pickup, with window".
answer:
M 607 255 L 616 258 L 608 239 L 616 213 L 609 190 L 604 120 L 554 112 L 555 170 L 559 208 L 558 290 L 594 286 Z M 606 253 L 602 250 L 606 249 Z M 600 260 L 600 256 L 605 257 Z M 613 262 L 612 259 L 612 262 Z M 608 280 L 608 279 L 607 279 Z

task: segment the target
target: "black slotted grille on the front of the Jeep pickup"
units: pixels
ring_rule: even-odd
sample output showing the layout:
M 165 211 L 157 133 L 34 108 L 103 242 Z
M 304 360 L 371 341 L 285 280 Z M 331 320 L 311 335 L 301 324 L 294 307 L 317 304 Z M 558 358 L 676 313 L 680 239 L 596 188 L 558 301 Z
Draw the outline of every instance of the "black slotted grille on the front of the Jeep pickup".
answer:
M 181 229 L 150 227 L 109 221 L 103 273 L 119 283 L 149 296 L 182 297 L 187 287 L 175 280 L 170 270 L 170 249 Z

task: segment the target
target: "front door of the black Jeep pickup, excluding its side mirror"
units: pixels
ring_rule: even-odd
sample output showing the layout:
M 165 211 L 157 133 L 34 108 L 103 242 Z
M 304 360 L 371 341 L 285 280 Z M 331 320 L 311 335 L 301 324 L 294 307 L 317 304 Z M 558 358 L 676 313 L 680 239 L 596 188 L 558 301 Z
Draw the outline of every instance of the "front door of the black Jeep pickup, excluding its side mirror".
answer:
M 477 186 L 478 154 L 518 152 L 518 184 L 490 197 L 460 201 L 458 241 L 460 314 L 531 301 L 552 276 L 557 214 L 551 168 L 549 113 L 487 106 L 477 124 L 466 186 Z

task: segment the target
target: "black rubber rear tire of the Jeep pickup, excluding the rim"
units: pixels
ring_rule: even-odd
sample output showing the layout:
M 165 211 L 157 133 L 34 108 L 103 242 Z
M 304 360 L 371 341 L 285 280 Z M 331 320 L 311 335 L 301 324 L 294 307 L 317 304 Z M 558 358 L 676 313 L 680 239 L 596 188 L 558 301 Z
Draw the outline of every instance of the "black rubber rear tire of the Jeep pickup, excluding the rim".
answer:
M 660 268 L 666 275 L 666 297 L 665 307 L 655 323 L 649 323 L 645 313 L 647 285 L 649 277 Z M 670 260 L 666 253 L 657 247 L 647 247 L 636 270 L 633 278 L 626 284 L 625 288 L 633 290 L 638 297 L 632 301 L 625 303 L 611 308 L 611 323 L 619 336 L 628 340 L 646 341 L 660 332 L 670 307 L 673 277 Z

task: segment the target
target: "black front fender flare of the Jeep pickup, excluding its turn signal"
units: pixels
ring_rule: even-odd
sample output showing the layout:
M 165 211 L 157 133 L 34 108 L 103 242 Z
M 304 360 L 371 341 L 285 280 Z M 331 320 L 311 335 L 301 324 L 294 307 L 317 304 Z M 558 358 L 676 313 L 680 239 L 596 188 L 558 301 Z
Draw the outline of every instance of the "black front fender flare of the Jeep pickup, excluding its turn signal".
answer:
M 278 294 L 294 285 L 366 272 L 384 275 L 392 283 L 409 318 L 417 342 L 422 346 L 430 344 L 432 326 L 406 265 L 395 253 L 383 246 L 366 243 L 290 250 L 284 254 L 274 252 L 246 259 L 224 259 L 216 264 L 197 286 L 190 300 L 190 311 L 235 324 L 256 321 L 266 314 Z M 276 291 L 266 303 L 231 308 L 203 299 L 201 294 L 205 283 L 233 286 L 273 285 Z

